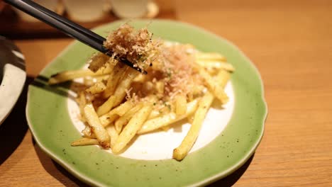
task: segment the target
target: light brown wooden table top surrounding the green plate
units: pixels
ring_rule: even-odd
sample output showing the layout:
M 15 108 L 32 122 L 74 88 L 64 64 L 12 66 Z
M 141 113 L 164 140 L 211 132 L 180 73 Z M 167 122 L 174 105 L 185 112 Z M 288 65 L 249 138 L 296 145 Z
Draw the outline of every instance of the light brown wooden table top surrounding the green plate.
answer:
M 174 4 L 179 21 L 234 42 L 258 67 L 269 114 L 254 156 L 212 186 L 332 186 L 332 1 Z M 16 40 L 28 82 L 70 39 Z M 26 90 L 0 126 L 0 186 L 84 186 L 29 132 Z

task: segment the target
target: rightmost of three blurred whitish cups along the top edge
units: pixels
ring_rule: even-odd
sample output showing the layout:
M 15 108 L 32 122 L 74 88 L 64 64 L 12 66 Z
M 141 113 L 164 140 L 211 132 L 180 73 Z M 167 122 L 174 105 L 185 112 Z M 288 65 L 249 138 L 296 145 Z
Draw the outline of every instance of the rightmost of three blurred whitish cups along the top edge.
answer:
M 143 18 L 149 0 L 111 0 L 112 11 L 118 18 Z

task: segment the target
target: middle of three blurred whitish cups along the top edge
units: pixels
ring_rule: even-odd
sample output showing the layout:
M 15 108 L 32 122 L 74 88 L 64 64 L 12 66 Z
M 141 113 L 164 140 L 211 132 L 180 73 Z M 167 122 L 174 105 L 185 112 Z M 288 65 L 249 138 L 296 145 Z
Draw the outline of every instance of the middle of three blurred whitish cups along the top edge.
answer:
M 64 3 L 73 21 L 91 22 L 104 16 L 105 0 L 64 0 Z

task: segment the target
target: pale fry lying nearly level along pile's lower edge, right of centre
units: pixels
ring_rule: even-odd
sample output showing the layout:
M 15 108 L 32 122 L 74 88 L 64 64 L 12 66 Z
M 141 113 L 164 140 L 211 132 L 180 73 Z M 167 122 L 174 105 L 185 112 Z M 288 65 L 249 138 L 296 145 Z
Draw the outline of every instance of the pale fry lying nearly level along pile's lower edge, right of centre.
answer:
M 187 104 L 187 113 L 184 115 L 177 115 L 175 113 L 167 113 L 165 115 L 161 115 L 160 117 L 153 118 L 151 120 L 147 120 L 142 128 L 138 131 L 138 134 L 143 134 L 146 132 L 151 132 L 153 130 L 157 130 L 159 128 L 165 127 L 172 123 L 175 123 L 179 120 L 186 118 L 188 115 L 194 113 L 197 109 L 198 101 L 195 99 L 194 101 Z

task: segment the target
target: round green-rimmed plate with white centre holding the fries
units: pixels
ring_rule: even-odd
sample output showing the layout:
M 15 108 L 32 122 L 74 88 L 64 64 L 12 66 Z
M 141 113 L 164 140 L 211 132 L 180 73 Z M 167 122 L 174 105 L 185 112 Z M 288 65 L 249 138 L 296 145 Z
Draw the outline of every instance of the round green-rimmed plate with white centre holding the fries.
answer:
M 105 36 L 124 22 L 100 26 L 95 32 Z M 93 186 L 199 186 L 236 171 L 255 152 L 264 130 L 267 106 L 258 70 L 236 46 L 201 28 L 162 20 L 130 24 L 135 28 L 148 26 L 156 37 L 192 43 L 201 51 L 226 56 L 236 68 L 226 87 L 231 102 L 209 111 L 194 149 L 182 162 L 160 152 L 165 149 L 172 152 L 167 136 L 178 135 L 170 144 L 181 143 L 179 138 L 185 135 L 186 125 L 156 132 L 160 133 L 159 145 L 155 135 L 147 135 L 146 140 L 153 141 L 147 142 L 145 137 L 137 140 L 139 143 L 134 143 L 133 149 L 127 149 L 128 154 L 114 155 L 97 146 L 71 147 L 70 143 L 81 134 L 72 114 L 75 110 L 70 104 L 72 99 L 67 94 L 69 84 L 48 86 L 45 81 L 51 74 L 82 68 L 94 52 L 80 42 L 73 42 L 29 86 L 26 117 L 37 144 L 74 176 Z M 225 118 L 218 118 L 221 115 Z M 137 148 L 146 150 L 135 153 Z

